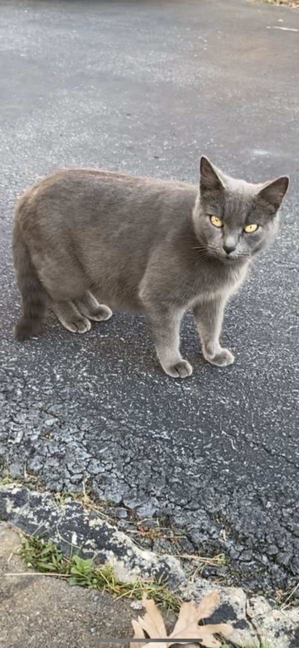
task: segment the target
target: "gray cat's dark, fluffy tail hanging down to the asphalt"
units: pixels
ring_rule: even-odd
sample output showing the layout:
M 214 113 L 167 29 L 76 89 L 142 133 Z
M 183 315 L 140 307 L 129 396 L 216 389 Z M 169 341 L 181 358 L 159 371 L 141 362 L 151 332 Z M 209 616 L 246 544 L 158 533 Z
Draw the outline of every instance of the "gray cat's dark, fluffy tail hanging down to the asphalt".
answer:
M 23 310 L 21 319 L 14 327 L 14 337 L 23 342 L 27 338 L 38 335 L 41 330 L 45 318 L 46 294 L 32 263 L 17 218 L 14 222 L 12 249 Z

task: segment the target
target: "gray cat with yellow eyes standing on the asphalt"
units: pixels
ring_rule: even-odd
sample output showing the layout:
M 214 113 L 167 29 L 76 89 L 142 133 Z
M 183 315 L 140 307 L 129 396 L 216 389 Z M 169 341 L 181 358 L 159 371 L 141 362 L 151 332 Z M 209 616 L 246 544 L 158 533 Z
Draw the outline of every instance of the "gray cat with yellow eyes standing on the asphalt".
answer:
M 203 355 L 224 367 L 223 310 L 249 262 L 278 229 L 285 176 L 254 185 L 201 157 L 200 189 L 176 181 L 91 170 L 58 170 L 17 203 L 14 265 L 23 316 L 14 334 L 38 334 L 45 308 L 83 333 L 110 307 L 142 312 L 162 368 L 192 374 L 179 351 L 184 312 L 193 309 Z

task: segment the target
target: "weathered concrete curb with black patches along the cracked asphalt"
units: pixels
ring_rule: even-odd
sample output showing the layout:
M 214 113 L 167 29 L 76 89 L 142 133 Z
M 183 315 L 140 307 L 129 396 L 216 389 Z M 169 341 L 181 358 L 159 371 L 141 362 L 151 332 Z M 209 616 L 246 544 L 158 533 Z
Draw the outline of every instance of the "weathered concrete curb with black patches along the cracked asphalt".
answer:
M 216 589 L 221 606 L 213 621 L 230 621 L 231 641 L 239 648 L 296 648 L 299 645 L 299 610 L 277 610 L 264 597 L 247 597 L 241 588 L 219 587 L 206 579 L 187 578 L 178 559 L 140 549 L 96 511 L 86 511 L 80 502 L 62 505 L 48 492 L 31 491 L 21 485 L 0 485 L 0 520 L 22 531 L 56 542 L 65 553 L 71 546 L 85 557 L 113 564 L 122 581 L 136 577 L 163 577 L 184 599 L 201 599 Z

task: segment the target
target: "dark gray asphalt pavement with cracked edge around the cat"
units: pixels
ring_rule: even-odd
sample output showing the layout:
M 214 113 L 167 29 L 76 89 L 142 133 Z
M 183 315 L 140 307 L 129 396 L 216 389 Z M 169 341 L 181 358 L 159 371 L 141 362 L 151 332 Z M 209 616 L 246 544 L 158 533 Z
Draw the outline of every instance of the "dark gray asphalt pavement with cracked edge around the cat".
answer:
M 0 457 L 54 491 L 80 489 L 225 551 L 228 581 L 299 576 L 299 13 L 245 0 L 0 6 Z M 287 27 L 293 31 L 276 29 Z M 291 176 L 276 244 L 227 310 L 236 364 L 164 375 L 144 320 L 84 336 L 49 317 L 19 345 L 10 240 L 16 194 L 59 166 L 196 181 L 206 154 L 254 181 Z M 120 514 L 121 515 L 121 514 Z M 299 595 L 299 590 L 297 590 Z

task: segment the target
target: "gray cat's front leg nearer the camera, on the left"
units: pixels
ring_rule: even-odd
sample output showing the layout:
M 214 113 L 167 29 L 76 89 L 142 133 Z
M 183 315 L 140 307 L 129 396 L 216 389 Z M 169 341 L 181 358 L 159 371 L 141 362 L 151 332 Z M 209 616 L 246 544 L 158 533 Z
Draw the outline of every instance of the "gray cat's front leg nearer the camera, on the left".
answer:
M 180 325 L 184 311 L 173 306 L 144 304 L 144 312 L 153 336 L 162 369 L 173 378 L 192 374 L 192 365 L 179 351 Z

